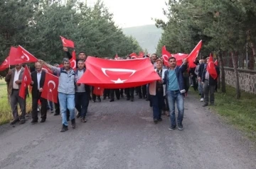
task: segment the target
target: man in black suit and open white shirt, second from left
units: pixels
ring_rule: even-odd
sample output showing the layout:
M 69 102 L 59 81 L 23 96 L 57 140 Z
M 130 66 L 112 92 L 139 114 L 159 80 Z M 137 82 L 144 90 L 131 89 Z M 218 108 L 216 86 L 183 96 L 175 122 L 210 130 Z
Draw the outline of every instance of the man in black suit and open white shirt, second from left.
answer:
M 32 86 L 32 124 L 38 122 L 38 100 L 41 102 L 41 122 L 46 122 L 46 112 L 47 112 L 47 100 L 41 98 L 41 93 L 43 91 L 43 84 L 46 79 L 46 72 L 42 70 L 42 64 L 36 62 L 36 71 L 31 73 L 31 86 Z

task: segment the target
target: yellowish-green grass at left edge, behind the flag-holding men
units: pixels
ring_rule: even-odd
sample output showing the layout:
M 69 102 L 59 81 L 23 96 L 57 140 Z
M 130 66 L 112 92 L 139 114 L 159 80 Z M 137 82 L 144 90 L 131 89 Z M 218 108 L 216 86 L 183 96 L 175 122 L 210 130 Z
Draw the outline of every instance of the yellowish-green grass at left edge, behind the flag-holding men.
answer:
M 26 112 L 31 112 L 32 100 L 26 98 Z M 18 114 L 20 110 L 18 109 Z M 12 120 L 11 105 L 8 102 L 7 86 L 4 79 L 0 80 L 0 124 L 5 124 Z

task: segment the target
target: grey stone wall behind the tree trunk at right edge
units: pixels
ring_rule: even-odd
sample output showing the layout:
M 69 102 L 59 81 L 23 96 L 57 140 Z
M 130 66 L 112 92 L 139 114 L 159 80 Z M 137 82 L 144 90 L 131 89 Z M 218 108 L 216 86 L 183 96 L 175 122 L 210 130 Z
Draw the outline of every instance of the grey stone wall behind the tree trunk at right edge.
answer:
M 256 94 L 256 71 L 238 69 L 238 73 L 241 90 Z M 233 68 L 225 67 L 225 83 L 235 87 L 235 72 Z

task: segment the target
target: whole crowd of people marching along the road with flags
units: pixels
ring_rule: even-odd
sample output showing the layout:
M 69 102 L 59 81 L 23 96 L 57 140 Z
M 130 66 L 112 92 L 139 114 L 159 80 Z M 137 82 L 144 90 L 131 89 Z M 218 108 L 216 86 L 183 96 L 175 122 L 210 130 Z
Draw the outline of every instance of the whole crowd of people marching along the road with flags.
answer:
M 31 72 L 31 86 L 32 86 L 32 121 L 31 124 L 38 123 L 38 100 L 41 102 L 41 121 L 46 122 L 46 116 L 48 109 L 50 112 L 53 111 L 53 103 L 49 102 L 45 98 L 41 97 L 43 91 L 43 84 L 46 78 L 46 71 L 43 70 L 43 65 L 47 66 L 48 69 L 53 71 L 55 76 L 58 76 L 58 103 L 54 104 L 55 113 L 54 115 L 60 115 L 62 117 L 62 127 L 60 132 L 68 130 L 68 122 L 71 122 L 71 127 L 75 129 L 76 122 L 75 117 L 80 118 L 81 122 L 87 122 L 87 108 L 92 102 L 101 102 L 101 96 L 95 95 L 92 91 L 93 86 L 88 86 L 83 83 L 77 83 L 82 77 L 82 74 L 86 71 L 85 68 L 85 52 L 79 52 L 77 59 L 77 69 L 70 67 L 70 59 L 72 58 L 67 48 L 63 48 L 66 52 L 66 58 L 63 58 L 63 67 L 58 67 L 58 64 L 50 65 L 43 60 L 39 59 L 35 63 L 35 71 Z M 195 61 L 197 64 L 196 68 L 188 69 L 187 60 L 183 59 L 181 66 L 176 65 L 176 58 L 169 58 L 169 66 L 164 66 L 163 59 L 158 57 L 157 54 L 151 54 L 149 57 L 151 63 L 157 74 L 161 77 L 159 81 L 153 81 L 144 86 L 134 86 L 133 88 L 117 88 L 117 89 L 105 89 L 103 93 L 103 100 L 107 98 L 110 102 L 115 99 L 126 97 L 127 100 L 134 101 L 134 95 L 138 95 L 139 99 L 149 100 L 149 106 L 153 109 L 153 121 L 154 123 L 161 122 L 161 115 L 167 115 L 170 117 L 169 130 L 183 129 L 183 113 L 184 113 L 184 98 L 188 93 L 189 86 L 193 86 L 195 91 L 199 91 L 201 95 L 201 101 L 204 101 L 203 106 L 209 104 L 214 105 L 214 92 L 217 80 L 213 79 L 206 67 L 208 58 Z M 110 59 L 110 58 L 105 58 Z M 134 59 L 129 56 L 119 57 L 117 59 Z M 218 66 L 215 66 L 217 73 L 219 74 Z M 23 76 L 24 68 L 22 64 L 16 64 L 14 69 L 9 70 L 5 77 L 8 86 L 8 94 L 10 98 L 11 110 L 13 120 L 11 124 L 24 124 L 26 122 L 26 98 L 21 98 L 18 93 L 21 87 L 21 81 Z M 191 80 L 189 80 L 191 79 Z M 178 109 L 178 115 L 176 120 L 175 115 L 175 103 Z M 21 115 L 18 115 L 17 105 L 20 105 Z M 75 109 L 78 113 L 75 115 Z

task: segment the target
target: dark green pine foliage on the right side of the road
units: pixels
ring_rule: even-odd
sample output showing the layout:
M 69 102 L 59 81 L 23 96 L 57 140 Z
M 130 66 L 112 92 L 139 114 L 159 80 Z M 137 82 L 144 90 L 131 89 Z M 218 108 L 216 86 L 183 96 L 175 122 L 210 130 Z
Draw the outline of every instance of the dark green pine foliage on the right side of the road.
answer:
M 221 0 L 169 0 L 167 23 L 156 20 L 164 29 L 157 51 L 161 47 L 172 52 L 191 52 L 203 40 L 202 54 L 215 51 L 240 51 L 248 39 L 255 43 L 255 2 Z M 248 38 L 249 37 L 249 38 Z

